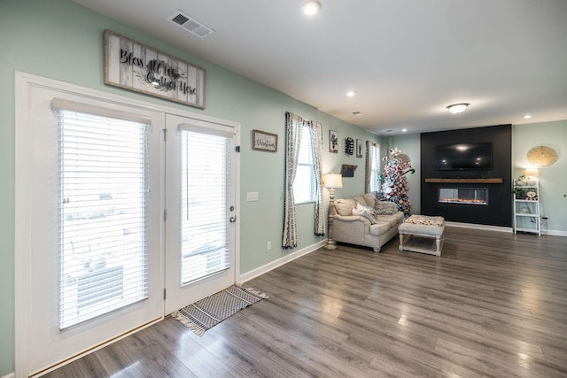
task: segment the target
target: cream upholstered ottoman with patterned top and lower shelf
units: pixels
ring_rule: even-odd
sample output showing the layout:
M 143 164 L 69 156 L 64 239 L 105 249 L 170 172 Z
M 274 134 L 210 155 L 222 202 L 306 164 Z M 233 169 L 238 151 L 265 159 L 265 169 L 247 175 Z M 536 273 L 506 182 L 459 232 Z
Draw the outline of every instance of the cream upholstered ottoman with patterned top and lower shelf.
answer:
M 400 251 L 441 255 L 445 232 L 443 217 L 412 215 L 400 224 L 398 232 L 400 233 Z

